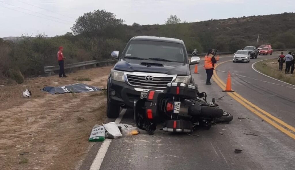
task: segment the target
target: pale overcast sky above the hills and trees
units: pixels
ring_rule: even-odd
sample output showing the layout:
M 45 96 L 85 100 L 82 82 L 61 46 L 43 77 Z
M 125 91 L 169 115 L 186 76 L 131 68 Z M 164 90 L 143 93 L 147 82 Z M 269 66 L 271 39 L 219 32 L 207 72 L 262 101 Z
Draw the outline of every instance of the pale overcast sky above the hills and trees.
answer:
M 116 14 L 128 25 L 143 25 L 164 24 L 171 14 L 196 22 L 294 12 L 295 0 L 0 0 L 0 37 L 62 35 L 71 31 L 78 16 L 97 9 Z

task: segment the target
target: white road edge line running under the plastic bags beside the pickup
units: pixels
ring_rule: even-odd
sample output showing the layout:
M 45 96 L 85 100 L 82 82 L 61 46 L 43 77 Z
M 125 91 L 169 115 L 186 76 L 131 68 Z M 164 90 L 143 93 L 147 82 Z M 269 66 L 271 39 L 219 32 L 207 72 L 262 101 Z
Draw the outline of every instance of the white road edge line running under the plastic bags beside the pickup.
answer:
M 116 124 L 120 123 L 125 112 L 126 112 L 126 109 L 123 109 L 121 111 L 121 113 L 119 114 L 119 117 L 115 120 Z M 101 144 L 89 170 L 99 170 L 100 169 L 102 161 L 104 160 L 104 156 L 106 155 L 106 152 L 108 151 L 108 148 L 109 148 L 111 142 L 112 142 L 112 139 L 105 139 L 103 141 L 103 143 Z

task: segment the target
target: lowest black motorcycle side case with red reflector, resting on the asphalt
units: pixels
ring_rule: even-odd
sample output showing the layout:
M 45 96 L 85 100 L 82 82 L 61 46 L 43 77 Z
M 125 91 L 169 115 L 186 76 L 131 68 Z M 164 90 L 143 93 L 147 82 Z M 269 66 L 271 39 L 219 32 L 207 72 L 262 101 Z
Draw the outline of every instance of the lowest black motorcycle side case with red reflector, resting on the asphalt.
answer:
M 191 133 L 193 125 L 191 121 L 186 120 L 167 120 L 163 131 L 174 133 Z

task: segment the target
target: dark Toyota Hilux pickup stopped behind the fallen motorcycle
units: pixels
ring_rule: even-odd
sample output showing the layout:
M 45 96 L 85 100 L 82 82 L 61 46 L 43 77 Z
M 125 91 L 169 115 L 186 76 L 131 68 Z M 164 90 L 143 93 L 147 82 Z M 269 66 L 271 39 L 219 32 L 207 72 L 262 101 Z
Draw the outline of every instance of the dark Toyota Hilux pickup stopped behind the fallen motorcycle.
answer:
M 107 81 L 109 118 L 117 118 L 120 107 L 133 108 L 152 89 L 163 91 L 170 82 L 194 84 L 190 65 L 200 62 L 199 57 L 189 62 L 182 40 L 153 36 L 133 37 L 122 53 L 111 56 L 119 60 Z

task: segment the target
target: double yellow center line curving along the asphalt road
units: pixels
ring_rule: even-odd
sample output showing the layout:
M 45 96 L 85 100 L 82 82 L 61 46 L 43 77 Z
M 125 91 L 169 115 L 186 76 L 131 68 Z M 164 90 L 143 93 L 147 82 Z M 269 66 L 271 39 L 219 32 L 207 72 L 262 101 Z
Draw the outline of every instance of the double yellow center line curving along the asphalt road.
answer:
M 232 60 L 229 60 L 229 61 L 232 61 Z M 220 64 L 223 64 L 225 62 L 228 62 L 228 61 L 224 61 L 224 62 L 221 62 L 219 64 L 216 64 L 215 69 Z M 224 84 L 224 82 L 217 76 L 216 71 L 214 71 L 214 73 L 213 73 L 213 79 L 214 79 L 214 81 L 217 83 L 217 85 L 219 87 L 221 87 L 222 89 L 225 89 L 226 84 Z M 228 95 L 230 95 L 237 102 L 239 102 L 240 104 L 245 106 L 247 109 L 252 111 L 254 114 L 259 116 L 261 119 L 267 121 L 269 124 L 273 125 L 274 127 L 279 129 L 283 133 L 285 133 L 288 136 L 290 136 L 291 138 L 295 139 L 295 134 L 294 134 L 295 133 L 295 128 L 293 126 L 285 123 L 281 119 L 278 119 L 277 117 L 271 115 L 270 113 L 264 111 L 263 109 L 260 109 L 258 106 L 251 103 L 250 101 L 246 100 L 245 98 L 243 98 L 242 96 L 240 96 L 240 94 L 238 94 L 236 92 L 228 93 Z

